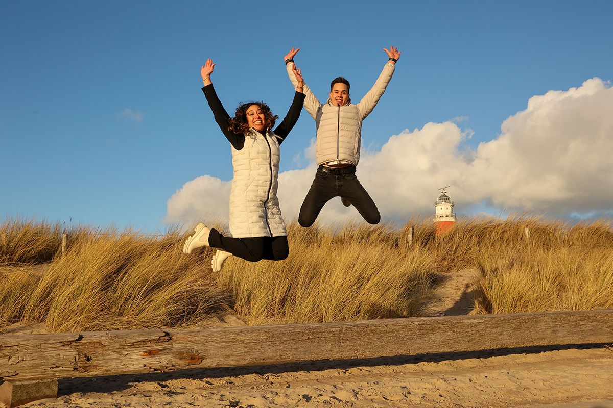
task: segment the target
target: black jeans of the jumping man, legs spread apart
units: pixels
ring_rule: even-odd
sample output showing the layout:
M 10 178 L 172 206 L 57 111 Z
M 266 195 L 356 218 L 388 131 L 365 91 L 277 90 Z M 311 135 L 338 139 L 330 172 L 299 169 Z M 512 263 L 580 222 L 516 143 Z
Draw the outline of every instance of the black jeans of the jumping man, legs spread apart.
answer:
M 310 227 L 326 202 L 335 197 L 345 198 L 356 207 L 369 224 L 378 224 L 381 215 L 372 198 L 356 177 L 356 166 L 331 169 L 319 166 L 307 197 L 300 207 L 298 223 Z

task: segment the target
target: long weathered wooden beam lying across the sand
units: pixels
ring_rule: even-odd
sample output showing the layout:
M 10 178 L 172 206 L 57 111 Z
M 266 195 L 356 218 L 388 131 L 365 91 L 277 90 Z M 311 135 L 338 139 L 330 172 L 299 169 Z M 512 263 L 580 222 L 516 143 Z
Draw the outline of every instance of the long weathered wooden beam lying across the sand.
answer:
M 613 310 L 0 335 L 0 380 L 613 342 Z

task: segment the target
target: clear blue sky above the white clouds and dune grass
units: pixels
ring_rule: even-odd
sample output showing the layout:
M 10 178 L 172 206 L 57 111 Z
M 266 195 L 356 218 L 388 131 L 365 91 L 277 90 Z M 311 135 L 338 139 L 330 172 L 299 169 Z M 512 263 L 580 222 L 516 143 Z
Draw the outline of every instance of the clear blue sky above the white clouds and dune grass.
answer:
M 359 100 L 396 45 L 363 146 L 460 117 L 472 135 L 460 149 L 474 152 L 530 97 L 613 79 L 612 12 L 610 1 L 3 1 L 0 217 L 157 231 L 186 182 L 230 180 L 200 91 L 207 57 L 228 111 L 265 100 L 283 117 L 291 46 L 321 100 L 337 75 Z M 303 111 L 281 171 L 306 166 L 295 158 L 313 137 Z

